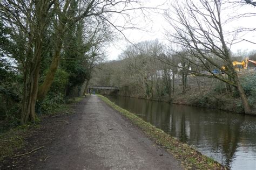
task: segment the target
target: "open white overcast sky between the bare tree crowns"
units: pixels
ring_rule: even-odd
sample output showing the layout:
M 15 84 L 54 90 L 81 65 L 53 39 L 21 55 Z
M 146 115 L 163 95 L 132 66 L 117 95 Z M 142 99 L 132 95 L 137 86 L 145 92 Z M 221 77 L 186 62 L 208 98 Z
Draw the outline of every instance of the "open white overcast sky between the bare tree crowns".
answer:
M 159 8 L 167 9 L 169 5 L 167 5 L 166 2 L 167 1 L 165 0 L 145 0 L 144 6 L 155 7 L 160 5 Z M 256 8 L 254 8 L 252 5 L 244 5 L 241 6 L 239 11 L 252 11 L 256 13 Z M 131 29 L 125 30 L 123 31 L 123 33 L 125 34 L 126 38 L 129 39 L 129 41 L 131 41 L 132 43 L 154 39 L 158 39 L 160 42 L 166 42 L 164 32 L 166 29 L 169 29 L 170 25 L 165 21 L 163 15 L 161 14 L 163 12 L 163 10 L 148 10 L 148 12 L 146 13 L 146 17 L 142 15 L 142 13 L 140 13 L 139 11 L 137 11 L 136 13 L 131 13 L 131 15 L 134 17 L 133 23 L 135 23 L 137 27 L 143 27 L 143 30 L 146 31 Z M 234 13 L 234 11 L 230 11 L 230 13 Z M 113 21 L 116 25 L 124 25 L 125 23 L 124 19 L 121 17 L 113 17 Z M 243 18 L 242 20 L 235 21 L 230 25 L 232 25 L 233 27 L 244 26 L 256 28 L 256 15 L 253 18 Z M 256 31 L 247 33 L 243 36 L 243 38 L 255 42 Z M 129 42 L 126 42 L 123 36 L 120 36 L 119 40 L 115 40 L 106 49 L 107 60 L 118 59 L 118 55 L 122 53 L 129 45 L 131 44 Z M 236 52 L 238 50 L 252 51 L 253 49 L 256 50 L 256 45 L 246 41 L 242 41 L 238 44 L 232 45 L 231 47 L 231 50 L 233 52 Z

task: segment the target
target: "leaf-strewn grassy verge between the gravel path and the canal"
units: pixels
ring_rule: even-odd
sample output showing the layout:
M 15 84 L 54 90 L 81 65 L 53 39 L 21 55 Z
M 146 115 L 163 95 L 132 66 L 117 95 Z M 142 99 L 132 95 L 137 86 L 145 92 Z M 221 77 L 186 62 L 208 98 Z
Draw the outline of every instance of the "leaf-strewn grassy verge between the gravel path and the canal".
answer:
M 108 98 L 99 95 L 100 98 L 107 104 L 109 104 L 113 109 L 120 112 L 126 118 L 130 119 L 132 123 L 137 125 L 142 129 L 147 136 L 152 138 L 154 142 L 166 148 L 168 152 L 174 155 L 174 157 L 181 161 L 184 168 L 193 169 L 220 169 L 225 168 L 223 165 L 219 164 L 211 158 L 202 155 L 200 152 L 194 150 L 187 144 L 181 143 L 176 138 L 171 137 L 169 134 L 165 133 L 163 130 L 157 129 L 150 123 L 143 121 L 143 119 L 132 114 L 131 112 L 118 107 L 118 105 L 111 102 Z

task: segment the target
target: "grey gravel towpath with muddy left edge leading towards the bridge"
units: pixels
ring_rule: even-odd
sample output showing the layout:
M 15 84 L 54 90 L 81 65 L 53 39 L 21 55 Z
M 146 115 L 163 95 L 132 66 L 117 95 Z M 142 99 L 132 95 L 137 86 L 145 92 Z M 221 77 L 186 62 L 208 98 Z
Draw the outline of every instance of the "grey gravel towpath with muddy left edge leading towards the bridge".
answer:
M 54 121 L 62 125 L 45 127 L 46 134 L 38 136 L 38 147 L 45 148 L 16 160 L 15 168 L 181 169 L 172 155 L 97 96 L 78 103 L 75 115 Z

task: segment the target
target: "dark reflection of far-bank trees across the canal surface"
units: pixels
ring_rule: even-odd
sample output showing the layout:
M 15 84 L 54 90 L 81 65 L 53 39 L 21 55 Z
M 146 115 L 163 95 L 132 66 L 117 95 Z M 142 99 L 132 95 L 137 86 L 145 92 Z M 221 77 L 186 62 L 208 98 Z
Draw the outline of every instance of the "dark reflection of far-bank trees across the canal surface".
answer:
M 205 154 L 214 155 L 215 159 L 225 162 L 227 166 L 231 165 L 241 136 L 250 138 L 250 141 L 251 138 L 256 139 L 250 136 L 252 130 L 248 133 L 240 131 L 244 121 L 250 122 L 245 120 L 247 117 L 244 115 L 136 98 L 118 97 L 115 100 L 120 107 L 145 114 L 140 117 L 146 122 L 169 132 L 184 143 L 200 148 Z

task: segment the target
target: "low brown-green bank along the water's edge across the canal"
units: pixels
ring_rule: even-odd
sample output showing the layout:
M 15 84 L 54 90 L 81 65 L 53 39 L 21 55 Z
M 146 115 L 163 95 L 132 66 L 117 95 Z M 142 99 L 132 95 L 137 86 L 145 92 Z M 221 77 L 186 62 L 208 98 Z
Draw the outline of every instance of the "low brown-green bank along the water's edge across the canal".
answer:
M 106 94 L 108 95 L 108 94 Z M 120 95 L 124 96 L 124 95 Z M 193 107 L 210 108 L 225 110 L 229 112 L 234 112 L 237 114 L 244 114 L 244 108 L 242 107 L 242 102 L 238 96 L 234 95 L 234 92 L 218 94 L 214 91 L 209 91 L 208 89 L 201 89 L 197 91 L 195 89 L 187 90 L 186 93 L 177 92 L 175 96 L 171 98 L 167 95 L 161 97 L 145 98 L 138 96 L 124 96 L 133 98 L 142 98 L 145 100 L 167 102 L 171 104 L 181 104 L 190 105 Z M 255 106 L 255 96 L 249 97 L 248 101 L 250 103 L 252 111 L 256 112 Z

